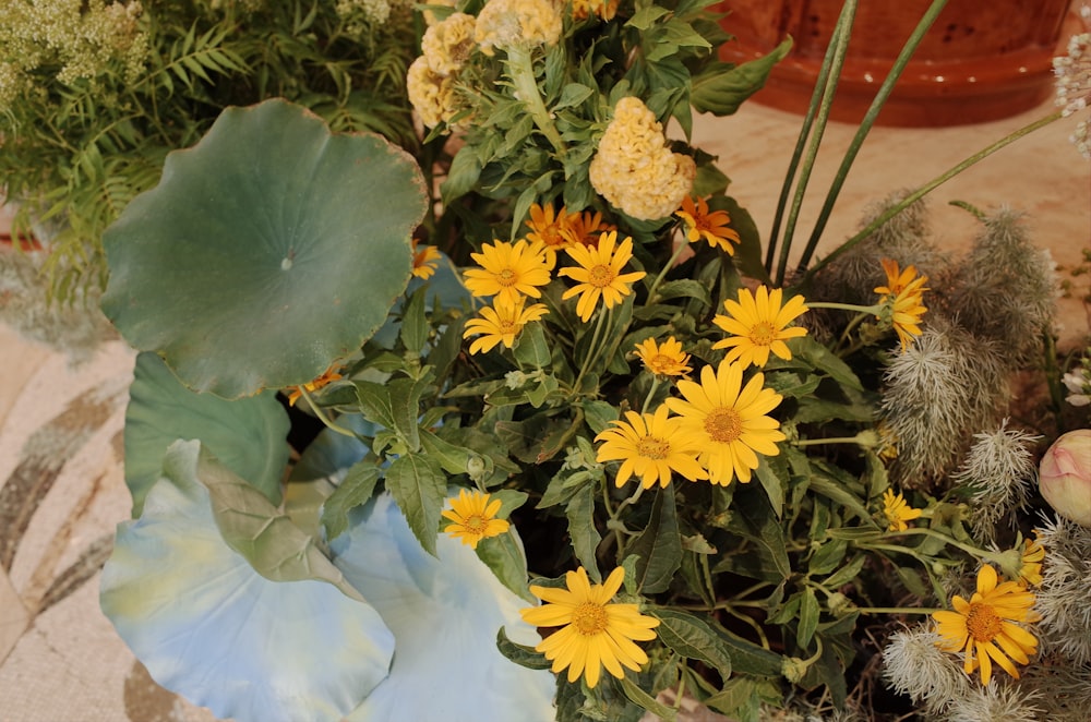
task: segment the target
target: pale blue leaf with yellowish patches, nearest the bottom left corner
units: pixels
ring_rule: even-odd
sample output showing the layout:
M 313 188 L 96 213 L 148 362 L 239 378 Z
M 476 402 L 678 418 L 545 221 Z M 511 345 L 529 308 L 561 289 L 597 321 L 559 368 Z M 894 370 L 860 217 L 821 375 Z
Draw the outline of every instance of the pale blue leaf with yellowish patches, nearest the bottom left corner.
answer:
M 339 720 L 387 674 L 391 630 L 325 581 L 271 581 L 224 541 L 178 442 L 143 515 L 118 526 L 103 611 L 160 685 L 238 722 Z

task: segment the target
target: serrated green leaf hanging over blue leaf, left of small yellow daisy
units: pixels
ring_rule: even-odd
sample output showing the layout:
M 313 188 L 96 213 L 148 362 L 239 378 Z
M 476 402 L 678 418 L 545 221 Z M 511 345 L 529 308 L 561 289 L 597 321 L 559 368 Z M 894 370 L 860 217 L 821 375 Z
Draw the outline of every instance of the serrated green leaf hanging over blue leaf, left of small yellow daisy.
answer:
M 425 552 L 435 556 L 447 480 L 440 462 L 424 454 L 399 456 L 386 469 L 386 489 Z

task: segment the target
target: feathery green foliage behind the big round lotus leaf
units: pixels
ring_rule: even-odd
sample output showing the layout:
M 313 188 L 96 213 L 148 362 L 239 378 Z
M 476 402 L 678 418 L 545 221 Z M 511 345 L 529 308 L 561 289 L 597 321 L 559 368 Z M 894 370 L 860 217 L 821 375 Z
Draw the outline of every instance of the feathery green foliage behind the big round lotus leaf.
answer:
M 195 143 L 229 106 L 285 97 L 335 131 L 416 144 L 405 8 L 377 22 L 303 0 L 104 4 L 0 13 L 0 63 L 12 74 L 0 93 L 0 189 L 19 204 L 15 231 L 48 240 L 60 300 L 105 287 L 103 231 L 155 185 L 168 152 Z

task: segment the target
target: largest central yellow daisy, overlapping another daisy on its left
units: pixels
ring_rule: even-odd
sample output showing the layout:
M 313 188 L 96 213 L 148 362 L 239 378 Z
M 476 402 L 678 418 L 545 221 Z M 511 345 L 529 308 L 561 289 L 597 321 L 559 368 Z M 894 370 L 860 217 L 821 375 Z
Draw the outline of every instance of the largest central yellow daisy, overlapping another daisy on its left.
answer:
M 757 455 L 777 456 L 777 442 L 786 438 L 780 422 L 765 416 L 780 404 L 780 394 L 764 387 L 760 373 L 743 386 L 743 368 L 730 361 L 721 361 L 716 371 L 705 366 L 699 384 L 678 383 L 684 400 L 667 399 L 670 410 L 682 417 L 682 428 L 699 440 L 697 462 L 708 470 L 709 481 L 723 486 L 736 476 L 748 482 Z

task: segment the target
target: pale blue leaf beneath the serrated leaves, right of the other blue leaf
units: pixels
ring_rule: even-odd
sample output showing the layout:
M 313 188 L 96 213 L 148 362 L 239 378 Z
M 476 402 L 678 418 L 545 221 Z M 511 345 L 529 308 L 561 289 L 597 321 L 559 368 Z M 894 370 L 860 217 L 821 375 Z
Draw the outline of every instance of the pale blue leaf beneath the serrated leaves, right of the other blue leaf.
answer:
M 552 720 L 554 677 L 514 664 L 496 649 L 536 645 L 519 617 L 526 602 L 505 589 L 473 550 L 441 536 L 439 558 L 421 549 L 389 494 L 376 496 L 332 543 L 334 564 L 394 631 L 391 675 L 349 722 Z

